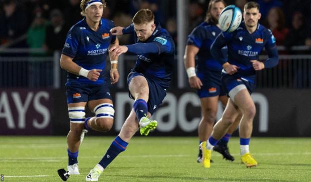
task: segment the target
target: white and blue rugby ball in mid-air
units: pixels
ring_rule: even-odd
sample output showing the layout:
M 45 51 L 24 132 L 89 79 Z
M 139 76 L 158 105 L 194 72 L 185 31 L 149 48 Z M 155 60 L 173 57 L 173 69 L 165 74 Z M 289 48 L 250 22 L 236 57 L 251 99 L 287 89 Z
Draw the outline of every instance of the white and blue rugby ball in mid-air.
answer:
M 232 32 L 236 30 L 242 21 L 242 12 L 235 5 L 228 5 L 220 12 L 218 24 L 222 31 Z

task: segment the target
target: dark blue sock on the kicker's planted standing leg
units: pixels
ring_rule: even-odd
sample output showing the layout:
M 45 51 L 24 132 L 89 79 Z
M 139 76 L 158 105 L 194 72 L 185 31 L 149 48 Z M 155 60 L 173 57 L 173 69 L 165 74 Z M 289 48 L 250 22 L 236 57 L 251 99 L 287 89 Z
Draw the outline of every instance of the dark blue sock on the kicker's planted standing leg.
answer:
M 105 169 L 121 152 L 126 150 L 128 144 L 129 143 L 125 142 L 119 136 L 117 136 L 111 143 L 105 156 L 98 164 Z

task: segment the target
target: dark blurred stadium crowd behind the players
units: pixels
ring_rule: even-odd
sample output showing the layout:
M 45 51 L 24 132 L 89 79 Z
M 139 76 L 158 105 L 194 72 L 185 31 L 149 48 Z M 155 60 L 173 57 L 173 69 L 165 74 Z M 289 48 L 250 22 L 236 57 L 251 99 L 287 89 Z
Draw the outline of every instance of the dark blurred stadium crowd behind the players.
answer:
M 247 1 L 226 0 L 240 9 Z M 208 2 L 188 1 L 187 33 L 202 22 Z M 272 30 L 277 45 L 311 46 L 311 0 L 257 2 L 262 13 L 260 23 Z M 80 0 L 0 0 L 0 47 L 44 48 L 50 52 L 62 49 L 68 29 L 82 19 L 79 5 Z M 176 0 L 107 0 L 103 17 L 114 20 L 117 26 L 127 26 L 141 8 L 151 9 L 176 43 Z M 130 37 L 120 37 L 120 44 L 133 43 Z

